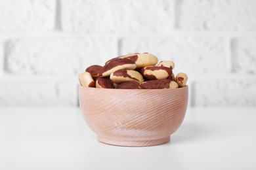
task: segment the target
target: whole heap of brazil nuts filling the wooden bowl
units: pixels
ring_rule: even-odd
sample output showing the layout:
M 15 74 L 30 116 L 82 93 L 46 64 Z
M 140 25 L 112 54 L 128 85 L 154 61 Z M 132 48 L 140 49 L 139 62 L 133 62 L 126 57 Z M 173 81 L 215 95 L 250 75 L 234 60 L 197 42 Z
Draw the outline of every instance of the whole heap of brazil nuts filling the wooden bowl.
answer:
M 147 52 L 128 54 L 91 65 L 79 75 L 81 86 L 116 89 L 173 89 L 186 86 L 185 73 L 173 74 L 173 61 L 160 61 Z M 156 65 L 157 64 L 157 65 Z

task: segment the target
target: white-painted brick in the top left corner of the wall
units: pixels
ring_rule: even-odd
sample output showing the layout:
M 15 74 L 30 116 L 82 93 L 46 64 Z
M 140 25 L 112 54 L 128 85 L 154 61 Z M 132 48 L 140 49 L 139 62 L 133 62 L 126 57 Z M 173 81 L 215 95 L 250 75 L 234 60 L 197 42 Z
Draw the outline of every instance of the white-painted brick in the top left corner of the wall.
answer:
M 0 32 L 53 30 L 55 6 L 53 0 L 0 0 Z

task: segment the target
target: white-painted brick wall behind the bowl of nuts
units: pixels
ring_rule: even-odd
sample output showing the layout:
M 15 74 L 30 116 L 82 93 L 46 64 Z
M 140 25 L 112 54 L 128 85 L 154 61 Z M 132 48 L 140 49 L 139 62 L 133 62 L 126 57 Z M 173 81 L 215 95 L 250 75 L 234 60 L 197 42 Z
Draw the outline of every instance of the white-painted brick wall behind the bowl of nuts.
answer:
M 149 52 L 192 107 L 256 107 L 256 0 L 0 0 L 0 107 L 78 106 L 78 74 Z

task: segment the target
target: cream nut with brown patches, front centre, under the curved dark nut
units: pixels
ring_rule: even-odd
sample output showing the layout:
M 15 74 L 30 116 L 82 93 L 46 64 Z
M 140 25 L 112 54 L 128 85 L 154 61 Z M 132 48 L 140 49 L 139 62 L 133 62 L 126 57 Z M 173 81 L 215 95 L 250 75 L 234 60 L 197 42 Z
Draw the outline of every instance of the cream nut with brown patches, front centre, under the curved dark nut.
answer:
M 144 78 L 138 71 L 122 69 L 111 73 L 110 80 L 117 84 L 123 82 L 144 82 Z

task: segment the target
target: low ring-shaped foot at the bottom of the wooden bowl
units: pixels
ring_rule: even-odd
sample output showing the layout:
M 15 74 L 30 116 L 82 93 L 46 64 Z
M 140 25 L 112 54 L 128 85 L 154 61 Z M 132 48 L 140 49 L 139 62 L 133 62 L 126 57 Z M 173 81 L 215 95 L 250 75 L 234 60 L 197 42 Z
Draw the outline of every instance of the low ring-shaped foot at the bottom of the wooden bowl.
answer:
M 153 139 L 153 140 L 140 140 L 140 141 L 122 141 L 122 140 L 115 140 L 115 139 L 106 139 L 106 137 L 97 137 L 98 141 L 105 144 L 112 144 L 116 146 L 155 146 L 160 144 L 165 144 L 170 141 L 169 137 L 164 137 L 161 139 Z

